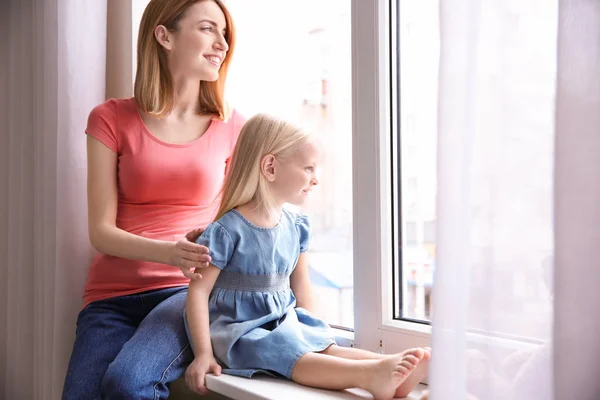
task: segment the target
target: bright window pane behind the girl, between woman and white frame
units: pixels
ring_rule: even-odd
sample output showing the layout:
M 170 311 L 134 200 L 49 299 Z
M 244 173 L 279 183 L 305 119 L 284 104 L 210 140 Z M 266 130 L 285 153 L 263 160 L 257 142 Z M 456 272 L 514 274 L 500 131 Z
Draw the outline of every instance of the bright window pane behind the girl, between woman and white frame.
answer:
M 237 28 L 229 103 L 247 117 L 266 112 L 299 121 L 322 143 L 320 184 L 303 210 L 312 223 L 311 279 L 318 315 L 353 328 L 350 1 L 227 6 Z

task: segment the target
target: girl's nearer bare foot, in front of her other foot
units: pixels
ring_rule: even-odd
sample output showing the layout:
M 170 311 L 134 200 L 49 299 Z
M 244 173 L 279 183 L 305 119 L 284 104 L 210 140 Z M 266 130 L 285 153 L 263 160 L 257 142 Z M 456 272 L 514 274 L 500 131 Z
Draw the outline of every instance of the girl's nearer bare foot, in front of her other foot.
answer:
M 405 353 L 394 354 L 369 363 L 369 374 L 363 388 L 370 392 L 375 400 L 392 399 L 396 388 L 416 368 L 419 363 L 418 356 L 411 352 Z

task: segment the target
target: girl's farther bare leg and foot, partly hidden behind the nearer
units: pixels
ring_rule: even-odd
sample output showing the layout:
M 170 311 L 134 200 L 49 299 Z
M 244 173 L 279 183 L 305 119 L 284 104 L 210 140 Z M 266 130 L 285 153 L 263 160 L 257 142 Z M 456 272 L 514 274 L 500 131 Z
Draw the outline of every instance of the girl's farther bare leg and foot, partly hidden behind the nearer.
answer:
M 372 351 L 356 349 L 353 347 L 341 347 L 332 345 L 329 346 L 323 354 L 330 356 L 341 357 L 349 360 L 379 360 L 389 355 L 374 353 Z M 406 397 L 413 389 L 429 374 L 429 358 L 431 357 L 431 349 L 424 347 L 423 349 L 408 349 L 399 353 L 399 355 L 412 354 L 418 358 L 418 364 L 404 379 L 404 381 L 396 389 L 394 397 Z

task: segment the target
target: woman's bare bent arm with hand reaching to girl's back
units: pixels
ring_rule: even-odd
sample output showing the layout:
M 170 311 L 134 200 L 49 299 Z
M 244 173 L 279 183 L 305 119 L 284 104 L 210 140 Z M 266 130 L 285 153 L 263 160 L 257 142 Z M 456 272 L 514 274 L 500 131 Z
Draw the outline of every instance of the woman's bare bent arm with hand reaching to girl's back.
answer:
M 117 154 L 88 135 L 88 226 L 92 245 L 101 253 L 177 266 L 190 271 L 208 265 L 208 249 L 185 238 L 177 242 L 144 238 L 117 228 Z

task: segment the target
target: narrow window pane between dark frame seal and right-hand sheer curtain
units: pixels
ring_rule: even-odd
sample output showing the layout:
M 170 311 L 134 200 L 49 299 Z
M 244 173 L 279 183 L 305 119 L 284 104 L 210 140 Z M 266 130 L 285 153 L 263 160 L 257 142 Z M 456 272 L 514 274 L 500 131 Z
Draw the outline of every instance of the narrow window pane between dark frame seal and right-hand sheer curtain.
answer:
M 401 1 L 398 7 L 400 148 L 396 154 L 403 276 L 396 285 L 402 288 L 396 317 L 429 321 L 436 266 L 438 3 Z

